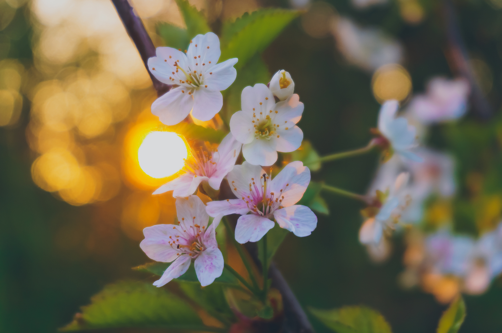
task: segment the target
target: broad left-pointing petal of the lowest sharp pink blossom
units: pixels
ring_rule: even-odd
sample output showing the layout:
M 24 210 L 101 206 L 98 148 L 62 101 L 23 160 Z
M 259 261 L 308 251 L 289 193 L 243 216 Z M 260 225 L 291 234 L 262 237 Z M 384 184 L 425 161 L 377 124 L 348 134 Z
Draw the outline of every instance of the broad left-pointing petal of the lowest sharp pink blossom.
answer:
M 177 251 L 169 242 L 176 238 L 180 230 L 174 224 L 157 224 L 143 229 L 145 239 L 141 241 L 140 248 L 145 254 L 155 261 L 171 262 L 175 260 Z

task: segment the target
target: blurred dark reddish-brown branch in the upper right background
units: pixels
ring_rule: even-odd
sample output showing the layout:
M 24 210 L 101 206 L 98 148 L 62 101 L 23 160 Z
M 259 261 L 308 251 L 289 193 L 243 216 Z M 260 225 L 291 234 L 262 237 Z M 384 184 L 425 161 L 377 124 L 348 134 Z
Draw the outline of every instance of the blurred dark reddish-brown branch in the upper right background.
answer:
M 458 72 L 465 77 L 471 86 L 471 103 L 474 110 L 482 118 L 488 118 L 492 114 L 491 105 L 488 103 L 479 87 L 474 72 L 469 64 L 467 48 L 462 39 L 458 20 L 455 16 L 455 8 L 452 0 L 443 0 L 444 27 L 447 39 L 447 60 L 452 71 Z

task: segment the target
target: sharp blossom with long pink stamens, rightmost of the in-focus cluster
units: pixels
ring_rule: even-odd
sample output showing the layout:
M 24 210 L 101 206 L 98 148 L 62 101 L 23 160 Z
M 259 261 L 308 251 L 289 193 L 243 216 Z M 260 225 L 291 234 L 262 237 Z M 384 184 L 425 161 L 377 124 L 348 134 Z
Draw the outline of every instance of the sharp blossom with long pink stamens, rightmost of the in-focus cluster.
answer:
M 235 165 L 227 179 L 239 199 L 209 202 L 206 211 L 213 217 L 240 214 L 235 227 L 237 242 L 259 241 L 274 227 L 274 219 L 299 237 L 310 235 L 317 226 L 310 208 L 295 205 L 310 183 L 310 170 L 301 161 L 289 163 L 274 179 L 259 165 L 244 161 Z

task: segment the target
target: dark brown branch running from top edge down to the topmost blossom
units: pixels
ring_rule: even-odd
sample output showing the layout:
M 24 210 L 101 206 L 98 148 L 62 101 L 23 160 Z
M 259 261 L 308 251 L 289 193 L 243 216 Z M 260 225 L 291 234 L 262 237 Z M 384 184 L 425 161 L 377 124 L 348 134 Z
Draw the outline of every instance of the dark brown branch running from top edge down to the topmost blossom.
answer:
M 148 74 L 152 79 L 155 90 L 157 90 L 157 96 L 164 95 L 171 89 L 171 85 L 160 82 L 155 78 L 155 76 L 150 73 L 148 69 L 148 59 L 155 57 L 155 46 L 152 39 L 148 35 L 143 22 L 140 17 L 136 14 L 133 6 L 128 0 L 111 0 L 115 9 L 117 10 L 118 16 L 124 27 L 129 34 L 129 37 L 133 40 L 138 52 L 140 53 L 141 59 L 147 68 Z

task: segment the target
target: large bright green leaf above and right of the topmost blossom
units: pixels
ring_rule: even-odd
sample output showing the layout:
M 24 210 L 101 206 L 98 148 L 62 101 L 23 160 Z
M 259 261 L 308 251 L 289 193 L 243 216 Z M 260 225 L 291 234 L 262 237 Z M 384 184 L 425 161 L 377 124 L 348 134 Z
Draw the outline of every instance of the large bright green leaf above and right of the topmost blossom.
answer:
M 263 52 L 299 15 L 299 11 L 264 9 L 244 15 L 233 23 L 224 23 L 220 61 L 238 58 L 235 68 L 242 68 L 255 54 Z

